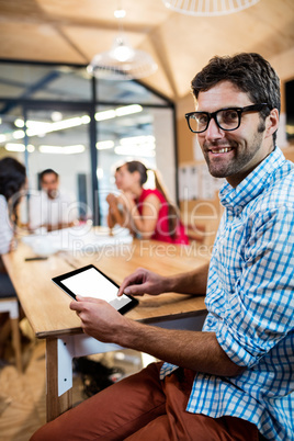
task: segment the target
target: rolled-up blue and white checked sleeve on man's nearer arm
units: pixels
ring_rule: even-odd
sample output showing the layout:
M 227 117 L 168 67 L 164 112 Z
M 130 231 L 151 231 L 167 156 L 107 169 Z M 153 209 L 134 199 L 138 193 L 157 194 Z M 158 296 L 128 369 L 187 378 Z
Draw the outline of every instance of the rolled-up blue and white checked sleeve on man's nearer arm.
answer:
M 216 338 L 231 361 L 250 368 L 294 329 L 294 210 L 260 212 L 249 224 L 240 278 Z

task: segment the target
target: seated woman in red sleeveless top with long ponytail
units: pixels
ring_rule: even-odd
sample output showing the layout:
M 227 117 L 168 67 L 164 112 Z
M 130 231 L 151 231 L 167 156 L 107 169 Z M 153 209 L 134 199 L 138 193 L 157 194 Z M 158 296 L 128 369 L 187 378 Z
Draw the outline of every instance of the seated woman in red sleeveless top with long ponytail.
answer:
M 109 226 L 115 224 L 129 228 L 142 239 L 162 240 L 170 244 L 188 244 L 184 227 L 174 205 L 154 171 L 156 189 L 145 189 L 148 169 L 139 161 L 128 161 L 116 169 L 116 182 L 121 194 L 109 194 Z M 118 181 L 117 181 L 118 179 Z

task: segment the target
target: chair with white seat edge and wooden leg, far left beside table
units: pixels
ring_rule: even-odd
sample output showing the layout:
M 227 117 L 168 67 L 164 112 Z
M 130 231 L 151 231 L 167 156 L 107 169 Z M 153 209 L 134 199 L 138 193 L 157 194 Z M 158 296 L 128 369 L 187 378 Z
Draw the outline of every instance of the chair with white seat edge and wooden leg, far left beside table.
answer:
M 21 335 L 19 328 L 19 303 L 16 296 L 0 297 L 0 313 L 9 313 L 12 330 L 12 346 L 15 353 L 15 364 L 22 372 Z

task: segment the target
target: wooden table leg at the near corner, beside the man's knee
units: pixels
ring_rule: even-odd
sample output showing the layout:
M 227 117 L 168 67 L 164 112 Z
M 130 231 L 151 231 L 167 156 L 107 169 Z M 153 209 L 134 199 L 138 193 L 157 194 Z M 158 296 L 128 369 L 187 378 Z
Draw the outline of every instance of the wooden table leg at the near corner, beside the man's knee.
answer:
M 58 397 L 57 339 L 46 340 L 47 421 L 72 407 L 72 388 Z

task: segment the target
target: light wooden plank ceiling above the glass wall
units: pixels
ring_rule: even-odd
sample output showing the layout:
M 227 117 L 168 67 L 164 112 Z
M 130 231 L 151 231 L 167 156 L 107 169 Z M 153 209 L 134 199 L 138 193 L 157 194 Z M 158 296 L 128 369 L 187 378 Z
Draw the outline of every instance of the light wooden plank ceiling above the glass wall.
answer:
M 171 12 L 161 0 L 0 0 L 0 58 L 88 64 L 118 35 L 114 10 L 121 7 L 131 44 L 159 66 L 143 82 L 176 101 L 216 54 L 272 58 L 294 46 L 293 0 L 260 0 L 214 18 Z

